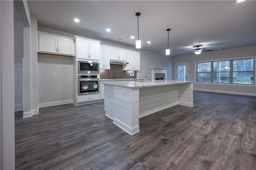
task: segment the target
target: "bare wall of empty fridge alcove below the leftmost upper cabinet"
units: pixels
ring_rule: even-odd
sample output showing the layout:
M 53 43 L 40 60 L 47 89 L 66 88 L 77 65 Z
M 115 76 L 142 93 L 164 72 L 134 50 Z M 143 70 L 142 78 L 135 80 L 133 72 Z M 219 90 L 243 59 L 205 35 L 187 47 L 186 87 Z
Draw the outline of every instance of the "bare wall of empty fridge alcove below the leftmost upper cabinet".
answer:
M 73 57 L 38 54 L 39 107 L 72 102 L 72 69 Z

